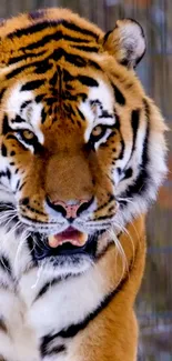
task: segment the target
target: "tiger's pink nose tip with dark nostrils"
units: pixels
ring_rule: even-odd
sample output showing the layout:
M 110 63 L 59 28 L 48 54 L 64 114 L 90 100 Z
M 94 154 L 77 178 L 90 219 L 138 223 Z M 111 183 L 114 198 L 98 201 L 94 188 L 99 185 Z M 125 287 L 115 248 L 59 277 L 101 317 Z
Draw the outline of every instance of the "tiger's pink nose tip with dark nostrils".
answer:
M 53 210 L 60 212 L 67 219 L 72 219 L 72 220 L 79 217 L 81 212 L 88 210 L 88 208 L 91 205 L 92 202 L 93 202 L 93 198 L 91 198 L 90 200 L 83 199 L 83 200 L 68 201 L 68 202 L 61 200 L 51 201 L 48 198 L 48 204 Z

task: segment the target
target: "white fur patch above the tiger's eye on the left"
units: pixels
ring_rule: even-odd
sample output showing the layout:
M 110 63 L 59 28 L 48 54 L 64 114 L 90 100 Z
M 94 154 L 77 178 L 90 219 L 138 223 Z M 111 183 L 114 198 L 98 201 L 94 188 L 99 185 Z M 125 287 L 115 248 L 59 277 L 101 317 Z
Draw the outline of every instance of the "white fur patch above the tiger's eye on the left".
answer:
M 29 129 L 43 143 L 41 127 L 42 104 L 36 102 L 36 94 L 24 90 L 21 83 L 16 84 L 8 97 L 6 111 L 12 129 Z

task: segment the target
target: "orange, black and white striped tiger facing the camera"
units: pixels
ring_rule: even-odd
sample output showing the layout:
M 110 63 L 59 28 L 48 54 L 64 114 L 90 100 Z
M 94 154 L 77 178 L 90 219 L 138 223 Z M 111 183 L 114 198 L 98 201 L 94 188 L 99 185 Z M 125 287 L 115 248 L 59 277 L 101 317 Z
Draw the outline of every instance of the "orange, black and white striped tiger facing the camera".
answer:
M 0 360 L 135 361 L 166 126 L 142 27 L 68 9 L 0 24 Z

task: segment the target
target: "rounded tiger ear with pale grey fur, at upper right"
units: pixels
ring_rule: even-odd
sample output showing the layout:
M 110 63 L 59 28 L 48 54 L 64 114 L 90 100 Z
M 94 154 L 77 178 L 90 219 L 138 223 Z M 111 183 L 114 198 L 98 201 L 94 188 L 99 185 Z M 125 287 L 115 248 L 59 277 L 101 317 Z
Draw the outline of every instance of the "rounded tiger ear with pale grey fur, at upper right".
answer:
M 145 52 L 143 29 L 134 20 L 118 20 L 115 28 L 104 36 L 103 47 L 121 64 L 134 68 Z

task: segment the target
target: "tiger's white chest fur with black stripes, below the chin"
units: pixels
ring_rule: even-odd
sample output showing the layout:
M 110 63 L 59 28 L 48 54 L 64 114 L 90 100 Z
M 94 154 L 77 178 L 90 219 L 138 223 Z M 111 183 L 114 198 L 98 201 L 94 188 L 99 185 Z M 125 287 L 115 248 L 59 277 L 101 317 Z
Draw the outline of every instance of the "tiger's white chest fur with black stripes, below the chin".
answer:
M 33 268 L 16 288 L 0 289 L 0 355 L 8 361 L 72 361 L 74 337 L 102 299 L 94 269 L 62 280 L 38 278 Z

